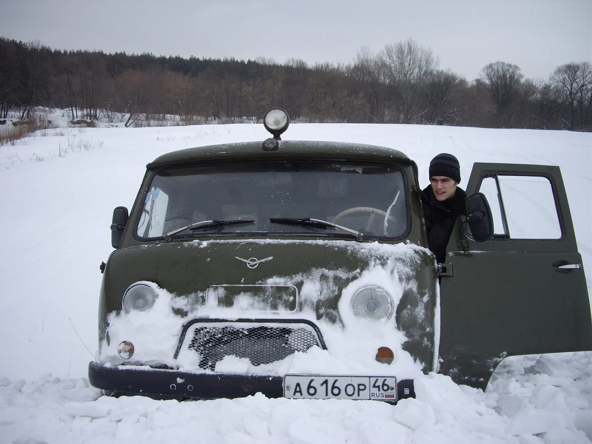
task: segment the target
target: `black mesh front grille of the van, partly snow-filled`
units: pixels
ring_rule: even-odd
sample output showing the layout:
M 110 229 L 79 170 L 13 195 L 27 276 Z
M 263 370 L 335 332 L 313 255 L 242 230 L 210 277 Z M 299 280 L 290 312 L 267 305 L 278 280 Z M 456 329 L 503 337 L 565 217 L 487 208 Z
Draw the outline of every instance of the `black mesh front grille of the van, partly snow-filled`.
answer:
M 323 346 L 305 326 L 198 326 L 188 348 L 200 355 L 200 368 L 214 370 L 224 356 L 248 358 L 253 365 L 279 361 L 294 352 Z

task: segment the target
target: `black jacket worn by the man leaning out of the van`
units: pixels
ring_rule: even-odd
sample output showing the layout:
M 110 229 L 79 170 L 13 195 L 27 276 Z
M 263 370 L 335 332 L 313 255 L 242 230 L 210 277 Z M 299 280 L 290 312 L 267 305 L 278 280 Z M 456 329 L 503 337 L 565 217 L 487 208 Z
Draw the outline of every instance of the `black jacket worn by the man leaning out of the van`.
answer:
M 422 192 L 423 213 L 426 218 L 427 244 L 436 255 L 438 263 L 446 259 L 446 246 L 459 215 L 466 215 L 466 193 L 456 186 L 450 199 L 440 202 L 428 185 Z

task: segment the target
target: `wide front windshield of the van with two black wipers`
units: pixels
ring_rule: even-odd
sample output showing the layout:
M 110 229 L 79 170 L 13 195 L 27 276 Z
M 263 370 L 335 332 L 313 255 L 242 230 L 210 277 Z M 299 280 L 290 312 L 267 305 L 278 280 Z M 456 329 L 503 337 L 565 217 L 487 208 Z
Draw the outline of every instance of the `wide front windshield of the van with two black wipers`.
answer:
M 200 221 L 248 220 L 253 222 L 213 224 L 173 237 L 344 236 L 323 224 L 277 221 L 314 218 L 360 231 L 365 239 L 392 239 L 407 234 L 407 207 L 403 172 L 395 166 L 229 162 L 156 173 L 136 233 L 155 239 Z

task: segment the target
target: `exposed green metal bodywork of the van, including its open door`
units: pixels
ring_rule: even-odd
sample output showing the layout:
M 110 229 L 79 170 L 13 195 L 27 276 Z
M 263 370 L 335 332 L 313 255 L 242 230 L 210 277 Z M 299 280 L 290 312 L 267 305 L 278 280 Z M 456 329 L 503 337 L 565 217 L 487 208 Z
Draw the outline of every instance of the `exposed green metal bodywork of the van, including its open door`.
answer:
M 150 181 L 163 168 L 294 159 L 346 160 L 401 168 L 410 201 L 410 231 L 405 239 L 381 243 L 411 243 L 427 249 L 422 205 L 416 191 L 419 186 L 417 166 L 397 150 L 363 144 L 280 141 L 279 149 L 274 151 L 263 150 L 261 142 L 250 142 L 168 153 L 147 165 L 120 246 L 107 261 L 99 303 L 99 342 L 107 336 L 108 315 L 121 310 L 124 292 L 138 281 L 156 282 L 178 297 L 192 298 L 192 303 L 202 304 L 208 287 L 258 285 L 271 278 L 276 282 L 283 279 L 286 285 L 294 285 L 300 292 L 303 281 L 298 276 L 321 270 L 318 279 L 330 283 L 327 288 L 332 290 L 321 295 L 316 305 L 306 308 L 314 310 L 317 320 L 342 323 L 337 309 L 340 290 L 372 264 L 392 260 L 385 250 L 373 253 L 369 259 L 367 253 L 372 246 L 368 241 L 360 243 L 351 237 L 340 239 L 339 236 L 314 234 L 298 237 L 204 235 L 192 238 L 192 242 L 187 239 L 143 242 L 134 235 Z M 479 244 L 469 240 L 467 247 L 460 248 L 457 247 L 457 240 L 461 238 L 458 222 L 448 248 L 448 262 L 453 264 L 454 273 L 440 278 L 439 300 L 434 256 L 427 250 L 417 249 L 414 257 L 408 259 L 413 275 L 402 276 L 402 279 L 414 281 L 417 286 L 404 292 L 397 306 L 396 320 L 398 328 L 407 336 L 404 349 L 424 363 L 424 371 L 436 368 L 439 347 L 446 373 L 458 382 L 484 388 L 504 355 L 592 349 L 584 272 L 562 274 L 551 266 L 555 260 L 581 263 L 558 168 L 475 164 L 467 192 L 471 194 L 477 189 L 480 177 L 487 171 L 509 169 L 539 174 L 541 168 L 552 180 L 561 211 L 564 234 L 560 240 L 491 239 Z M 477 250 L 485 253 L 474 253 Z M 274 260 L 249 269 L 236 256 L 245 259 L 273 256 Z M 342 270 L 346 277 L 336 277 L 332 274 L 334 270 Z M 292 311 L 303 310 L 304 304 L 308 303 L 298 300 Z M 423 313 L 422 318 L 413 316 L 418 308 Z M 438 320 L 440 332 L 436 330 Z

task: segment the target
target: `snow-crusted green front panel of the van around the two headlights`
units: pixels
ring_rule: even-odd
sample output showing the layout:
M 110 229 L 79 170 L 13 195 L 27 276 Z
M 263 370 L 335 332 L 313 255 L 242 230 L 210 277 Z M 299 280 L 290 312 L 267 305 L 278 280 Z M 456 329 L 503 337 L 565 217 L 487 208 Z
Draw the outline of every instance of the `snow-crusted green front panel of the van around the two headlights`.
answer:
M 170 344 L 164 349 L 174 349 L 176 334 L 195 318 L 300 318 L 320 328 L 330 351 L 344 348 L 340 344 L 344 334 L 357 332 L 354 335 L 359 337 L 364 332 L 366 342 L 376 340 L 384 345 L 388 337 L 396 343 L 394 348 L 402 347 L 432 368 L 435 271 L 430 253 L 413 244 L 256 239 L 172 242 L 117 250 L 107 266 L 101 310 L 110 324 L 113 345 L 142 336 L 134 325 L 147 334 L 150 328 L 170 329 Z M 158 302 L 152 313 L 120 313 L 123 293 L 139 281 L 152 282 L 157 288 Z M 394 313 L 388 320 L 369 321 L 353 315 L 352 297 L 366 285 L 378 285 L 390 294 Z M 144 362 L 155 359 L 146 356 Z

